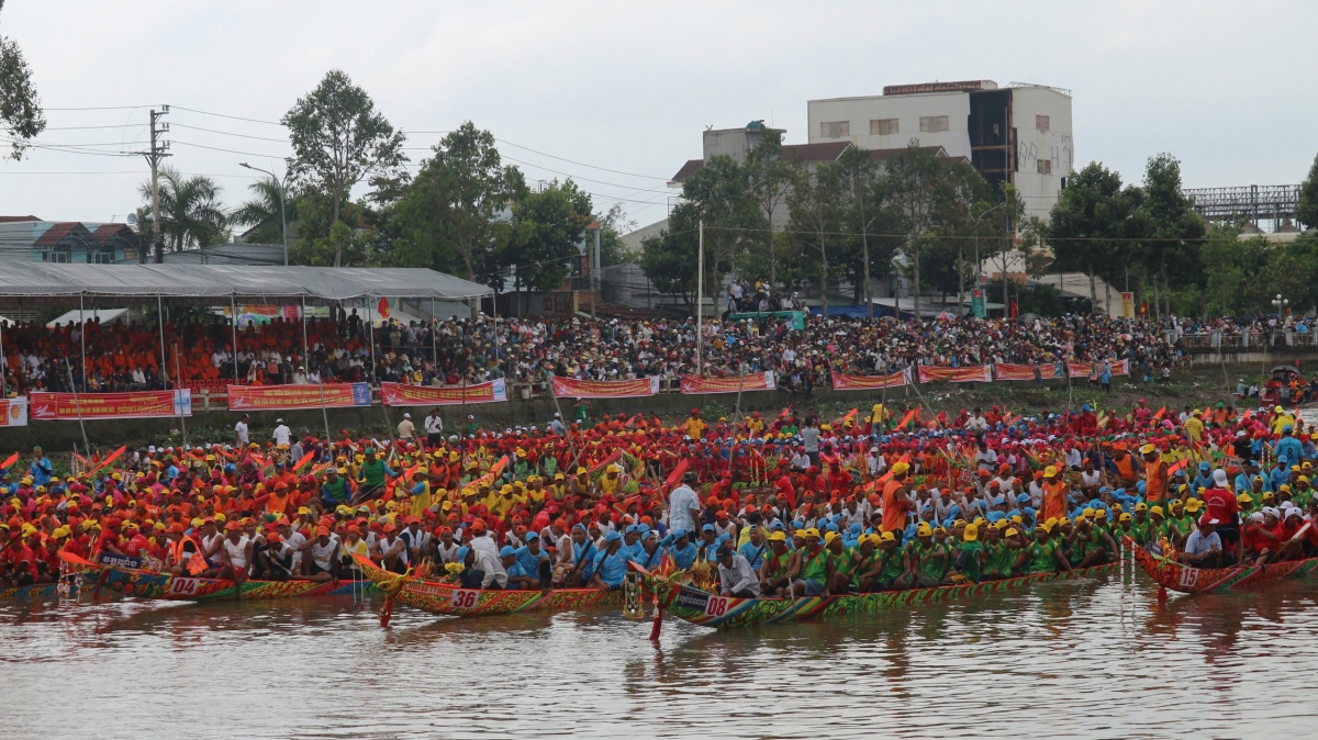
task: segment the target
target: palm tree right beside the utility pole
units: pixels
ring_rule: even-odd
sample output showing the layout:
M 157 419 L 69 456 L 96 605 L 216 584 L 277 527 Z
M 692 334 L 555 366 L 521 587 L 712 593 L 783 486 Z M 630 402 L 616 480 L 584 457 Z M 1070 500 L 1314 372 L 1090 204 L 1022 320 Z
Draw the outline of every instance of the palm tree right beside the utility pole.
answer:
M 210 246 L 220 242 L 228 230 L 229 216 L 220 204 L 220 186 L 206 175 L 185 176 L 174 167 L 161 167 L 161 236 L 174 251 Z M 148 212 L 152 183 L 137 186 Z M 163 245 L 162 245 L 163 246 Z M 165 254 L 157 250 L 156 261 Z

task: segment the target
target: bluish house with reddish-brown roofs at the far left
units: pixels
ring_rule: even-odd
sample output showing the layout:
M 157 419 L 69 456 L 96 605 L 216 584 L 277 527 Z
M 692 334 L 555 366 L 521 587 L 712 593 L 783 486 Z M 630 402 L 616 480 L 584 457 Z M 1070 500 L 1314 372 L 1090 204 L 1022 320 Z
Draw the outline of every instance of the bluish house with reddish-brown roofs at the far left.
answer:
M 142 245 L 128 224 L 0 216 L 0 259 L 116 265 L 137 262 Z

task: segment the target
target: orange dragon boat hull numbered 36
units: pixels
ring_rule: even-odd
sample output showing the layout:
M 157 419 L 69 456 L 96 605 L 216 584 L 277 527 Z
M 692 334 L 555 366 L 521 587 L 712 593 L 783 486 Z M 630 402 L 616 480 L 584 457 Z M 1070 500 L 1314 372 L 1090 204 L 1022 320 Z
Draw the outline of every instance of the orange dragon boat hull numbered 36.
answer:
M 569 611 L 585 606 L 622 604 L 623 593 L 601 589 L 550 589 L 547 591 L 521 591 L 501 589 L 463 589 L 431 578 L 390 573 L 373 561 L 355 556 L 357 566 L 374 586 L 385 594 L 385 607 L 380 612 L 382 625 L 389 624 L 393 602 L 434 614 L 456 616 L 486 616 L 519 611 Z

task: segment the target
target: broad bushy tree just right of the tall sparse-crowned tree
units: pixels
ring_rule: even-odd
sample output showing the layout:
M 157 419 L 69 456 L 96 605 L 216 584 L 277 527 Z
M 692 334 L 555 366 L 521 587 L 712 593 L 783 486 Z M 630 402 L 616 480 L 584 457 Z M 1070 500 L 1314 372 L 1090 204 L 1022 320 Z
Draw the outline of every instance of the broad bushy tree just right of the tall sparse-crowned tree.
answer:
M 494 136 L 464 122 L 435 145 L 398 201 L 395 257 L 468 280 L 489 277 L 509 238 L 507 208 L 525 190 L 522 174 L 503 167 Z

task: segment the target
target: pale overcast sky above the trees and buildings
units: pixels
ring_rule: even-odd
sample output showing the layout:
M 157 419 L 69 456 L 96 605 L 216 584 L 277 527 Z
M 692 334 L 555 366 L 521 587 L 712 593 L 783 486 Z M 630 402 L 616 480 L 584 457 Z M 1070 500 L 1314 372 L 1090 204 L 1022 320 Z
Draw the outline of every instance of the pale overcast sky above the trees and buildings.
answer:
M 414 161 L 442 137 L 422 132 L 472 120 L 529 179 L 571 175 L 642 225 L 706 125 L 764 119 L 804 142 L 809 99 L 929 80 L 1072 90 L 1077 165 L 1128 180 L 1170 151 L 1186 187 L 1298 183 L 1318 153 L 1315 28 L 1311 1 L 1206 0 L 8 0 L 0 14 L 47 108 L 40 141 L 137 150 L 148 108 L 170 104 L 171 163 L 215 175 L 228 204 L 252 182 L 239 162 L 282 171 L 283 129 L 182 108 L 278 121 L 339 67 L 416 132 Z M 30 150 L 0 162 L 0 215 L 123 220 L 145 172 L 140 157 Z

